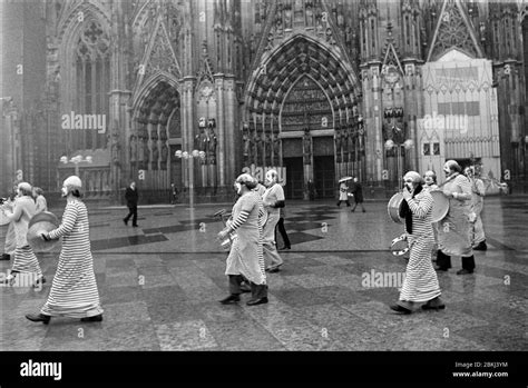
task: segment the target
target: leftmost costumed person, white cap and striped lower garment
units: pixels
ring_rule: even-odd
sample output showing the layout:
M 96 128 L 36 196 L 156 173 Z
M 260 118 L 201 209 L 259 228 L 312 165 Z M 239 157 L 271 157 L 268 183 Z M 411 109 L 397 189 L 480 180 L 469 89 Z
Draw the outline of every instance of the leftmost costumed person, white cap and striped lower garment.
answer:
M 29 220 L 35 216 L 36 206 L 32 198 L 32 188 L 28 182 L 21 182 L 17 188 L 18 197 L 11 208 L 6 205 L 2 209 L 6 216 L 11 220 L 14 229 L 14 239 L 17 242 L 14 249 L 14 260 L 11 273 L 6 278 L 6 283 L 13 285 L 18 273 L 35 273 L 37 276 L 33 287 L 46 281 L 39 260 L 28 243 L 27 235 Z

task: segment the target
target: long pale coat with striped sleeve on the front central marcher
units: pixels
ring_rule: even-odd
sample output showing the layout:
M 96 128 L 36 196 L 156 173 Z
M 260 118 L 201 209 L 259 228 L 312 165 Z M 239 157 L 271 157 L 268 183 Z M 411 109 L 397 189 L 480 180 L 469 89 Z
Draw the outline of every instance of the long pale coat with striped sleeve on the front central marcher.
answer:
M 236 231 L 225 275 L 243 275 L 255 285 L 265 285 L 264 257 L 262 252 L 262 217 L 264 208 L 258 192 L 243 195 L 233 207 L 233 221 L 228 225 Z

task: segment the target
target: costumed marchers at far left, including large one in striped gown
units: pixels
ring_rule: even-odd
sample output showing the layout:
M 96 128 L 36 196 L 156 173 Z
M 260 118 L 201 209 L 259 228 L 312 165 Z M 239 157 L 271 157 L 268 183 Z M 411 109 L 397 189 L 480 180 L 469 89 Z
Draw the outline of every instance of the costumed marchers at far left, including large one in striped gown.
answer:
M 62 238 L 62 248 L 46 304 L 40 312 L 26 316 L 31 321 L 49 324 L 51 317 L 102 320 L 90 249 L 88 211 L 81 200 L 81 190 L 79 177 L 71 176 L 63 181 L 61 193 L 67 205 L 61 223 L 40 236 L 45 241 Z M 19 183 L 14 202 L 10 207 L 2 207 L 6 216 L 13 221 L 17 236 L 11 273 L 6 279 L 10 285 L 20 272 L 36 273 L 37 282 L 45 282 L 39 261 L 27 240 L 29 221 L 36 215 L 37 207 L 30 192 L 31 185 Z

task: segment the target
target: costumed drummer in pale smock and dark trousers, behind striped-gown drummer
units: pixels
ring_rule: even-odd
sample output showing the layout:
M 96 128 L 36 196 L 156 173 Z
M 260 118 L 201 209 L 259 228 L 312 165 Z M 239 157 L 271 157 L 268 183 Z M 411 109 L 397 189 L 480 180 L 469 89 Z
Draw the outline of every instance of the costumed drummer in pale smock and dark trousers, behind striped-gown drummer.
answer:
M 475 257 L 472 250 L 471 182 L 461 175 L 462 169 L 454 160 L 448 160 L 443 166 L 447 181 L 443 183 L 443 195 L 449 198 L 449 211 L 438 226 L 437 270 L 447 271 L 451 268 L 451 256 L 462 258 L 462 269 L 457 275 L 472 273 Z

